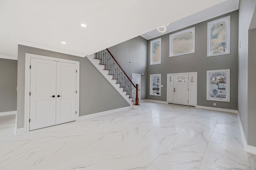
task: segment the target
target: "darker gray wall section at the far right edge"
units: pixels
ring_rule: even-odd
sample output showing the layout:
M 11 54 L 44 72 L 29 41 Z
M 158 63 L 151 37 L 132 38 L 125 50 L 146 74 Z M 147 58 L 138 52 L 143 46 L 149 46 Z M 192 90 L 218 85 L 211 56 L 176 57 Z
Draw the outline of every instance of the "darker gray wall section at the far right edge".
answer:
M 256 29 L 249 30 L 248 41 L 248 145 L 256 147 Z

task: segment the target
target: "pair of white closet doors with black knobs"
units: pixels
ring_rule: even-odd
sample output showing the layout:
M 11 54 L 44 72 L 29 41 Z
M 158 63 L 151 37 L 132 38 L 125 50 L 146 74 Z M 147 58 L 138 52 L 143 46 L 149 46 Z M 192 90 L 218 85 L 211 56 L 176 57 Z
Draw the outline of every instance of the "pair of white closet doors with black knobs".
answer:
M 76 64 L 30 59 L 30 130 L 76 120 Z

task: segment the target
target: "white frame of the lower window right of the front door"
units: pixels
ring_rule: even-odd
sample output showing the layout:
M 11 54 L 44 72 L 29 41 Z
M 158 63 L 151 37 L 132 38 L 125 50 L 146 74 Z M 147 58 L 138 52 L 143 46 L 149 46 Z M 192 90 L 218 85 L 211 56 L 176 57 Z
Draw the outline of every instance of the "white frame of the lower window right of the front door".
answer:
M 226 72 L 226 99 L 213 98 L 210 96 L 210 73 Z M 230 102 L 230 69 L 225 70 L 208 70 L 206 73 L 206 100 Z

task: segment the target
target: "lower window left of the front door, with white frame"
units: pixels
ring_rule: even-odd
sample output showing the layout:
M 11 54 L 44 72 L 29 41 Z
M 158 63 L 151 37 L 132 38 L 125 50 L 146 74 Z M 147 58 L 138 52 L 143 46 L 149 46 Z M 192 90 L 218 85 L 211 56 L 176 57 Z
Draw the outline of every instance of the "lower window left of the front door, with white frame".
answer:
M 161 74 L 150 74 L 150 95 L 161 96 Z

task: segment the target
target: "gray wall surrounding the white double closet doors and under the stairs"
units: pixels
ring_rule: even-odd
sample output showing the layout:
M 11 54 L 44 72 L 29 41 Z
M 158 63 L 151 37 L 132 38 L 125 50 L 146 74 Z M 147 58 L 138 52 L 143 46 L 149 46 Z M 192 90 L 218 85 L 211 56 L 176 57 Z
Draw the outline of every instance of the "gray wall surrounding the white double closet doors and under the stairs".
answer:
M 24 127 L 25 53 L 80 62 L 80 116 L 130 106 L 86 57 L 19 45 L 17 128 Z

